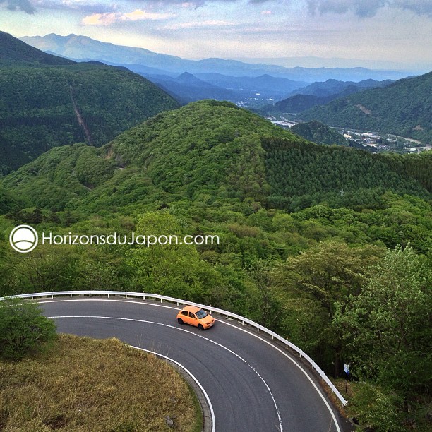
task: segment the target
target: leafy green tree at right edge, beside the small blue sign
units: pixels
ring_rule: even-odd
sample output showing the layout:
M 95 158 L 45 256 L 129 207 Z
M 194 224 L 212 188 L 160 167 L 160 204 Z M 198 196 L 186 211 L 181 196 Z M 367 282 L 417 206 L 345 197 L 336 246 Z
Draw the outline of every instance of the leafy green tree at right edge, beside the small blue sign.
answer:
M 411 246 L 397 246 L 359 296 L 335 314 L 353 373 L 404 397 L 426 392 L 431 383 L 431 264 Z

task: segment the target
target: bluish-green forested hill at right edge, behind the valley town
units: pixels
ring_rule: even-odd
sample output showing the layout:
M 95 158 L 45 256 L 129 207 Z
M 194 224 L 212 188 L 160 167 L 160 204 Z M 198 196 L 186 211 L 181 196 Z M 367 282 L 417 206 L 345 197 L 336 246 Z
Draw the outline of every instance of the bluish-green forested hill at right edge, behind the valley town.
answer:
M 301 113 L 330 126 L 356 128 L 432 142 L 432 72 L 404 78 Z

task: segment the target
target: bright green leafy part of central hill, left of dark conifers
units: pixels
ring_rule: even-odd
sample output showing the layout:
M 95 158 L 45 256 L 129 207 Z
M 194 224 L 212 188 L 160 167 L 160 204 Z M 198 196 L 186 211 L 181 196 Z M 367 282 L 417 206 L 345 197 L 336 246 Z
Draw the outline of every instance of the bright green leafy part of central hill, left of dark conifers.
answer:
M 84 207 L 99 203 L 104 208 L 163 197 L 196 199 L 202 193 L 263 198 L 264 136 L 294 137 L 229 102 L 193 102 L 145 121 L 100 149 L 52 149 L 6 176 L 4 185 L 34 205 L 57 210 L 78 197 Z

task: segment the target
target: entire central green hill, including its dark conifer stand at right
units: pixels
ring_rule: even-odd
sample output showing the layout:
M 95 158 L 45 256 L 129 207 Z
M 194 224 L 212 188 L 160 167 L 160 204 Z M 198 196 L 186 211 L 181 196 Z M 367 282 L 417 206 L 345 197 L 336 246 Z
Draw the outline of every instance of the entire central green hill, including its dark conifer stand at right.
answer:
M 326 202 L 377 208 L 393 191 L 431 199 L 432 154 L 320 146 L 229 102 L 158 114 L 103 148 L 55 148 L 3 181 L 30 206 L 135 212 L 179 200 L 252 198 L 297 211 Z

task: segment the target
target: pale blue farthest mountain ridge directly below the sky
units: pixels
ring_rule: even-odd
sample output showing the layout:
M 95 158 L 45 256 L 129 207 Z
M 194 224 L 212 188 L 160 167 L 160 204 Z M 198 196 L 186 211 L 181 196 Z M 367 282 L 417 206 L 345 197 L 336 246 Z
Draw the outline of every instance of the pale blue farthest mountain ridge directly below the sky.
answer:
M 136 64 L 179 75 L 183 72 L 221 73 L 230 76 L 261 76 L 289 78 L 313 82 L 328 78 L 364 80 L 367 78 L 402 78 L 399 71 L 372 71 L 367 68 L 284 68 L 268 64 L 247 64 L 236 60 L 186 60 L 178 56 L 157 54 L 145 48 L 125 47 L 93 40 L 87 36 L 68 35 L 22 37 L 21 40 L 44 51 L 49 50 L 71 59 L 94 59 L 115 64 Z

